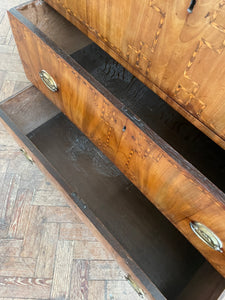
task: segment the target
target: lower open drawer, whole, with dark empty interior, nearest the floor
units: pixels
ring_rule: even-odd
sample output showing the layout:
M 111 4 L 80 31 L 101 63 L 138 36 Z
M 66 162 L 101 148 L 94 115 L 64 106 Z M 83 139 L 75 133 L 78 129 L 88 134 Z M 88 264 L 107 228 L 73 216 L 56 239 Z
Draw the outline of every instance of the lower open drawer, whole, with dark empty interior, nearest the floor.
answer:
M 2 103 L 0 118 L 140 296 L 212 300 L 223 292 L 225 279 L 35 87 Z

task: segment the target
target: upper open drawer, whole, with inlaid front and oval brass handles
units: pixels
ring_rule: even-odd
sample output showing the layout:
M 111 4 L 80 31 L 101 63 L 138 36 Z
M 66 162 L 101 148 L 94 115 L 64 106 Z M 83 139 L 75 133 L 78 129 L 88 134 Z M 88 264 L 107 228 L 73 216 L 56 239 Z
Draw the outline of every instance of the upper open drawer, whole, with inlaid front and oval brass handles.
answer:
M 44 2 L 9 18 L 28 79 L 225 276 L 224 151 Z

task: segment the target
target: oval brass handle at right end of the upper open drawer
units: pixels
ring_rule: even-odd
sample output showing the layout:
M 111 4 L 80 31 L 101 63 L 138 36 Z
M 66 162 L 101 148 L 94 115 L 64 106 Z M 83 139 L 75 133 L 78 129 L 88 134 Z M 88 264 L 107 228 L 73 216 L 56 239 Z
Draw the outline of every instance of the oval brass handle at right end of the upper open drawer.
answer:
M 223 244 L 218 236 L 205 225 L 199 222 L 190 222 L 191 229 L 194 233 L 212 249 L 223 252 Z

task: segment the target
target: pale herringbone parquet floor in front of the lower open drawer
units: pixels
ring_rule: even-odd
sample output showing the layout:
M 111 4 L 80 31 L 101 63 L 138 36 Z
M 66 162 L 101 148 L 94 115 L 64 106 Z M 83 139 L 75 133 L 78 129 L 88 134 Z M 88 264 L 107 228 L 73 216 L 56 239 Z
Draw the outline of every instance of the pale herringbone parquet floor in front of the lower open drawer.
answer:
M 68 207 L 63 194 L 40 173 L 36 165 L 28 162 L 2 125 L 0 137 L 0 299 L 74 299 L 72 295 L 75 292 L 71 288 L 74 278 L 69 270 L 75 262 L 96 260 L 92 272 L 101 261 L 96 269 L 99 275 L 105 272 L 103 262 L 111 262 L 112 277 L 108 280 L 112 284 L 116 281 L 119 292 L 111 285 L 108 288 L 105 278 L 101 281 L 102 289 L 95 290 L 99 281 L 90 279 L 88 270 L 86 298 L 76 300 L 105 300 L 105 297 L 110 299 L 110 295 L 138 300 L 112 255 L 82 223 L 77 211 Z M 72 228 L 79 230 L 77 235 L 69 237 L 65 234 L 66 228 L 71 229 L 69 232 Z M 79 268 L 77 272 L 82 274 L 83 269 Z M 82 276 L 79 277 L 81 279 Z M 77 286 L 82 284 L 79 280 L 77 278 Z M 65 298 L 65 295 L 68 297 Z

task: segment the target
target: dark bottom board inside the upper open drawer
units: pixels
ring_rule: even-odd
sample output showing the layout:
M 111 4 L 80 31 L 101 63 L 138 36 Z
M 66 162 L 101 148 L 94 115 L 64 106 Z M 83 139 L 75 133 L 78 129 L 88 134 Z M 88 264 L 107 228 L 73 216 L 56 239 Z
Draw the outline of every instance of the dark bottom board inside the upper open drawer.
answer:
M 72 54 L 95 79 L 225 192 L 225 151 L 96 44 Z

